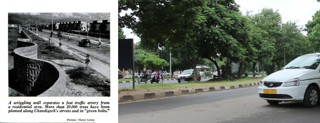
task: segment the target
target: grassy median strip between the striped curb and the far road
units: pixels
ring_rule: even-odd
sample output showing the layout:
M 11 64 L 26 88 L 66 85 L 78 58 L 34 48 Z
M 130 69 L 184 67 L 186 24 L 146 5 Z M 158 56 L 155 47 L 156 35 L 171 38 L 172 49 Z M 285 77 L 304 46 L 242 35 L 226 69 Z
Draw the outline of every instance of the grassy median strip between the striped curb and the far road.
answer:
M 136 89 L 170 89 L 170 88 L 196 88 L 196 87 L 220 87 L 220 86 L 232 86 L 239 84 L 248 84 L 261 81 L 263 77 L 247 77 L 244 79 L 239 79 L 235 81 L 204 81 L 204 82 L 184 82 L 184 83 L 175 83 L 175 84 L 142 84 L 136 85 Z M 129 88 L 120 88 L 121 90 L 132 89 Z

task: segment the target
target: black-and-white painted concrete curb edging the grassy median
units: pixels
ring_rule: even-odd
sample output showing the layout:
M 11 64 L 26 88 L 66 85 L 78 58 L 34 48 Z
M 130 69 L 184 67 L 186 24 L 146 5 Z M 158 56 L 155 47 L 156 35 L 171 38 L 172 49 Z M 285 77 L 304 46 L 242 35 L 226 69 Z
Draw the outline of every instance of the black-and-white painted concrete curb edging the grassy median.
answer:
M 186 89 L 186 90 L 178 90 L 178 91 L 145 93 L 145 94 L 138 94 L 138 95 L 125 95 L 125 96 L 118 97 L 118 102 L 126 102 L 129 100 L 155 99 L 155 98 L 159 98 L 159 97 L 180 96 L 180 95 L 187 95 L 187 94 L 193 94 L 193 93 L 203 93 L 203 92 L 218 91 L 218 90 L 229 90 L 229 89 L 251 87 L 251 86 L 256 86 L 256 85 L 259 85 L 259 82 L 249 83 L 249 84 L 241 84 L 241 85 L 233 85 L 233 86 L 195 88 L 195 89 Z

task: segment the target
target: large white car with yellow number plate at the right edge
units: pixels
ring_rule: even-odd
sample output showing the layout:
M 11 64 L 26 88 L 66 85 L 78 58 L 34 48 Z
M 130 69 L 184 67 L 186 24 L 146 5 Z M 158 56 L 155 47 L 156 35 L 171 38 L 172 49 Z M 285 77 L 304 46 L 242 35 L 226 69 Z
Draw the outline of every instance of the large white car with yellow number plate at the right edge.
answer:
M 259 96 L 269 104 L 303 101 L 306 107 L 319 104 L 320 53 L 300 56 L 280 71 L 260 81 Z

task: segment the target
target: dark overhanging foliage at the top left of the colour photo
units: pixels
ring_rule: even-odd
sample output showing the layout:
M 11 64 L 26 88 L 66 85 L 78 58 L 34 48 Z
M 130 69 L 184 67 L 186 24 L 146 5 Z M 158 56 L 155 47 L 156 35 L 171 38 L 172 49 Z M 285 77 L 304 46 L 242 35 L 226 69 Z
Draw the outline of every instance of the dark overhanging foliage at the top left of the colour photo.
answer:
M 188 42 L 188 34 L 203 21 L 200 13 L 205 4 L 205 0 L 118 0 L 118 13 L 132 10 L 125 16 L 118 14 L 118 25 L 131 28 L 149 49 L 159 43 L 180 45 Z

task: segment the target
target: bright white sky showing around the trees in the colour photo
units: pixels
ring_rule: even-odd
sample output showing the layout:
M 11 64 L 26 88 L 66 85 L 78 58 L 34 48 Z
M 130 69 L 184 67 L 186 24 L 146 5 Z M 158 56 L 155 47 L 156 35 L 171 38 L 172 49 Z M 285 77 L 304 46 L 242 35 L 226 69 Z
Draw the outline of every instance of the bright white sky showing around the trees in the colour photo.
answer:
M 316 11 L 320 10 L 320 3 L 317 0 L 235 0 L 240 5 L 240 11 L 243 15 L 247 11 L 252 14 L 259 13 L 263 8 L 272 8 L 278 10 L 282 17 L 282 23 L 291 20 L 296 21 L 300 27 L 305 27 L 308 20 L 312 20 L 312 16 Z M 132 33 L 131 29 L 123 28 L 126 38 L 133 38 L 133 42 L 137 43 L 140 38 Z M 306 32 L 302 32 L 306 35 Z

